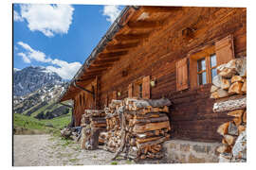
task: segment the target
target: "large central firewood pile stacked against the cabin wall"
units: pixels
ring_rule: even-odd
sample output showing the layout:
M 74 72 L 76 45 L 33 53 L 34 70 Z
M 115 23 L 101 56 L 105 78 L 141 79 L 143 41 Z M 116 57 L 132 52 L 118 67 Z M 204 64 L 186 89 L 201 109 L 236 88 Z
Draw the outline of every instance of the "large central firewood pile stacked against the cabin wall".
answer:
M 162 143 L 170 138 L 170 100 L 125 98 L 113 100 L 107 114 L 108 150 L 130 159 L 159 159 Z

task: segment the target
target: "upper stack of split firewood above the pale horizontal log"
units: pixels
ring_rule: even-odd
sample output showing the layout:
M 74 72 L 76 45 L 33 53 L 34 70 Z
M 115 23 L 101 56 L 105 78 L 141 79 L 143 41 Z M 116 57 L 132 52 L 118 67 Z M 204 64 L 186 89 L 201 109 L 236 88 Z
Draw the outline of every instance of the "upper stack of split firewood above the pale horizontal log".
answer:
M 217 67 L 219 74 L 212 79 L 210 98 L 223 98 L 247 93 L 247 59 L 232 59 Z

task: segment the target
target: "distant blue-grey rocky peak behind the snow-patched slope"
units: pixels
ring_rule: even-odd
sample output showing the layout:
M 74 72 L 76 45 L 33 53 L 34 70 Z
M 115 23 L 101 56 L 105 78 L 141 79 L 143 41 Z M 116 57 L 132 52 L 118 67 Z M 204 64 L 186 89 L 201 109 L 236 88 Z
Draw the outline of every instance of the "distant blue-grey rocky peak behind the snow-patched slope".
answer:
M 15 96 L 27 95 L 46 85 L 62 83 L 61 76 L 45 67 L 30 66 L 22 70 L 13 69 L 13 95 Z

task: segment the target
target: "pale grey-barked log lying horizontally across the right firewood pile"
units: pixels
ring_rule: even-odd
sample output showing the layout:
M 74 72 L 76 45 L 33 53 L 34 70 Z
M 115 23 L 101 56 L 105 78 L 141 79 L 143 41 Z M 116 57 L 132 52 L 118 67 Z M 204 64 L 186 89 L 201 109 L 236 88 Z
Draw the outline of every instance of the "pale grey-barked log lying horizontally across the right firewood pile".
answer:
M 247 97 L 243 97 L 239 99 L 214 103 L 213 111 L 223 112 L 223 111 L 230 111 L 230 110 L 240 110 L 240 109 L 245 109 L 246 107 L 247 107 Z

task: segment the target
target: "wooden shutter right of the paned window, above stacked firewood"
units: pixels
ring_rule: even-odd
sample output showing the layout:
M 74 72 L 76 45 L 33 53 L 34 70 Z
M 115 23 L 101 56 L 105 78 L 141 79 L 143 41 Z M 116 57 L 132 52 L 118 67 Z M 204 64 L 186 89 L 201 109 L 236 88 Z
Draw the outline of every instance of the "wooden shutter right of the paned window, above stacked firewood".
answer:
M 229 35 L 228 37 L 215 42 L 215 52 L 218 65 L 227 63 L 229 60 L 234 59 L 233 36 Z

